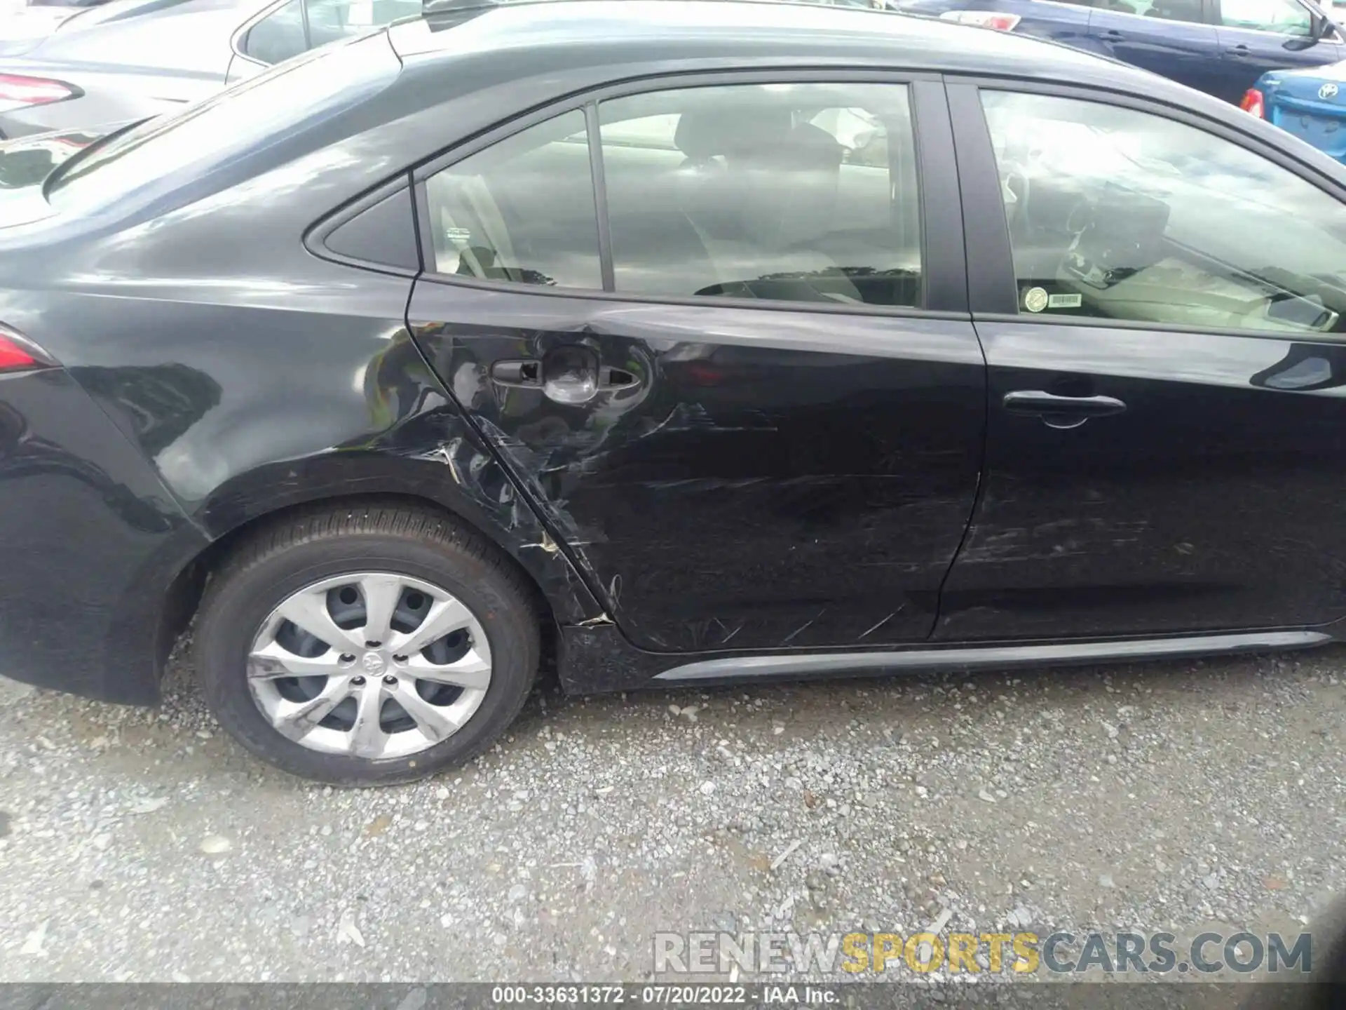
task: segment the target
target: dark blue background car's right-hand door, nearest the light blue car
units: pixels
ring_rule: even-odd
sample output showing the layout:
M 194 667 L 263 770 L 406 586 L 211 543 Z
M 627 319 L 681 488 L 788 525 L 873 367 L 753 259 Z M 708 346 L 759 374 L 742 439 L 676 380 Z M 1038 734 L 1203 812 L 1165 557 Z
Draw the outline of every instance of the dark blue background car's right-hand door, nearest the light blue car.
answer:
M 1339 28 L 1314 38 L 1318 12 L 1300 0 L 1213 0 L 1221 82 L 1214 94 L 1237 102 L 1268 70 L 1337 63 L 1346 58 Z

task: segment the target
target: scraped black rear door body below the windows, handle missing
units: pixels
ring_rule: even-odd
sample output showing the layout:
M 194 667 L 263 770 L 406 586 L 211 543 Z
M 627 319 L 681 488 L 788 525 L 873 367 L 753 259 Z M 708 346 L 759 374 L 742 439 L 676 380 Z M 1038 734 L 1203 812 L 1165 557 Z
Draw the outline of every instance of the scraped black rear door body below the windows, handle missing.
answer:
M 980 462 L 970 325 L 424 280 L 411 323 L 642 648 L 929 633 Z M 565 407 L 491 377 L 568 345 L 638 384 Z

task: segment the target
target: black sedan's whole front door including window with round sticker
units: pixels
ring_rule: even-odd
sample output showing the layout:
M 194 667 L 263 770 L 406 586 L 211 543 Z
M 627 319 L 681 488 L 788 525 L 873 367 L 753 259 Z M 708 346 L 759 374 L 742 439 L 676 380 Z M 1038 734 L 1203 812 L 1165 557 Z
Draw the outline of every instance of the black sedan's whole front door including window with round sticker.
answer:
M 1005 203 L 1008 304 L 975 315 L 987 474 L 937 637 L 1346 614 L 1339 197 L 1149 112 L 981 90 L 969 114 L 979 104 L 1000 171 L 1024 180 Z

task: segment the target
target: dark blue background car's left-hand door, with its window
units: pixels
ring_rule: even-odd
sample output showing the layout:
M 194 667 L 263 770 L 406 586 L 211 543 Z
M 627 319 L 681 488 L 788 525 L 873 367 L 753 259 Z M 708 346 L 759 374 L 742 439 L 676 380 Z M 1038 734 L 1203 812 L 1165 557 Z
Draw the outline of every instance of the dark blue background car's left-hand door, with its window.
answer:
M 1104 55 L 1198 92 L 1219 86 L 1219 40 L 1209 0 L 1098 0 L 1089 36 Z

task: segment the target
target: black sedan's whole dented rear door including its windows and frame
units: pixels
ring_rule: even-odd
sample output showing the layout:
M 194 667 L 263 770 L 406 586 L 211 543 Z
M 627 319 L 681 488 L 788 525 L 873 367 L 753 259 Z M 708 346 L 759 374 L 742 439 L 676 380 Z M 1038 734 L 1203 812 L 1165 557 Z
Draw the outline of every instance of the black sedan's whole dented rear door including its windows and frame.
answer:
M 649 649 L 925 638 L 985 422 L 940 82 L 561 109 L 423 174 L 409 308 L 555 531 L 534 549 Z

